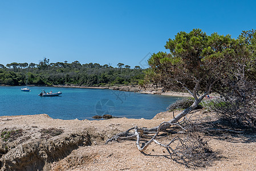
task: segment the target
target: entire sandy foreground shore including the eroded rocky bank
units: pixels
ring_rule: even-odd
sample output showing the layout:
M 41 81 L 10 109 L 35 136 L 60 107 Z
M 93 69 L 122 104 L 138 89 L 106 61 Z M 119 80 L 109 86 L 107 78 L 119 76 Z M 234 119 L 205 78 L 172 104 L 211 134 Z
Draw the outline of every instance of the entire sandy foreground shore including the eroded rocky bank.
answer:
M 198 110 L 212 117 L 214 113 Z M 176 115 L 177 113 L 174 113 Z M 194 170 L 170 160 L 165 149 L 152 144 L 140 153 L 135 141 L 105 141 L 129 128 L 155 127 L 173 113 L 153 119 L 60 120 L 46 114 L 0 117 L 1 170 Z M 198 170 L 254 170 L 255 135 L 208 137 L 220 160 Z

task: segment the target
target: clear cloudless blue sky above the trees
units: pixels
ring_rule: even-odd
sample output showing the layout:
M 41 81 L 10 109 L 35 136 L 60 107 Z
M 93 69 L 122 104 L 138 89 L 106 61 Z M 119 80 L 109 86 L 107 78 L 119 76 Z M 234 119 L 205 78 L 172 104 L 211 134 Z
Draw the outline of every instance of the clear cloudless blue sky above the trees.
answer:
M 256 1 L 0 0 L 0 63 L 146 63 L 177 32 L 256 28 Z

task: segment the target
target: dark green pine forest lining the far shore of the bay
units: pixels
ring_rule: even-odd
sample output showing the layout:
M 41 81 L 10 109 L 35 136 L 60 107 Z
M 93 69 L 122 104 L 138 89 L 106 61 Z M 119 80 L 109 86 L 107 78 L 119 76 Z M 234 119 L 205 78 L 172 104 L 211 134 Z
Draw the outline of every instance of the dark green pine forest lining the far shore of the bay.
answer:
M 144 79 L 143 69 L 140 66 L 131 68 L 123 63 L 117 67 L 98 63 L 80 64 L 77 60 L 72 63 L 67 61 L 50 63 L 44 58 L 35 63 L 10 63 L 0 64 L 0 84 L 9 86 L 29 85 L 76 85 L 76 86 L 114 86 L 134 85 Z

